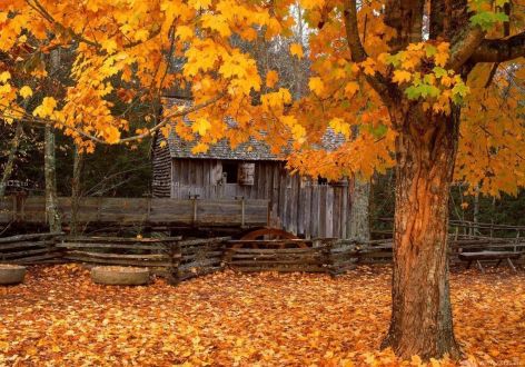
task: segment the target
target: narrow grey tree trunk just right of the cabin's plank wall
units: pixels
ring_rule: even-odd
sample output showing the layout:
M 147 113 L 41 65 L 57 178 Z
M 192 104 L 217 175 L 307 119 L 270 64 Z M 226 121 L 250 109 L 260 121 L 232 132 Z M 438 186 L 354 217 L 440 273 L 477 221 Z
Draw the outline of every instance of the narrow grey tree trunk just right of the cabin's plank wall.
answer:
M 349 237 L 358 241 L 368 241 L 370 239 L 370 182 L 355 178 L 353 185 Z

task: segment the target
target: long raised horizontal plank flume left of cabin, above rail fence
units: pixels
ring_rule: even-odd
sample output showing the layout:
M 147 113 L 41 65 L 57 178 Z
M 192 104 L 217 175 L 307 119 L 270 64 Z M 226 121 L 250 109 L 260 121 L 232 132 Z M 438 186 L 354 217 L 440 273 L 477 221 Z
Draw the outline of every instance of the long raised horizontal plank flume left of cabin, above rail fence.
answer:
M 59 198 L 63 222 L 71 220 L 71 198 Z M 78 221 L 82 224 L 168 224 L 182 226 L 266 226 L 268 201 L 179 200 L 156 198 L 82 198 L 78 206 Z M 46 222 L 43 197 L 0 199 L 0 222 Z

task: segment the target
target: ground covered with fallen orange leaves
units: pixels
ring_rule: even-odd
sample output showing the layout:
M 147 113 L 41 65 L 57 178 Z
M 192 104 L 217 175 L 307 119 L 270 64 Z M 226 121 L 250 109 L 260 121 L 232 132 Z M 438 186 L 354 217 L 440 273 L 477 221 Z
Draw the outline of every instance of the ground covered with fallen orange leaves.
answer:
M 0 287 L 0 366 L 417 365 L 377 351 L 389 271 L 226 271 L 120 288 L 92 285 L 79 266 L 36 267 L 24 285 Z M 456 271 L 452 297 L 460 364 L 525 365 L 525 272 Z

